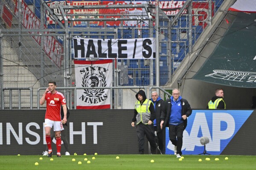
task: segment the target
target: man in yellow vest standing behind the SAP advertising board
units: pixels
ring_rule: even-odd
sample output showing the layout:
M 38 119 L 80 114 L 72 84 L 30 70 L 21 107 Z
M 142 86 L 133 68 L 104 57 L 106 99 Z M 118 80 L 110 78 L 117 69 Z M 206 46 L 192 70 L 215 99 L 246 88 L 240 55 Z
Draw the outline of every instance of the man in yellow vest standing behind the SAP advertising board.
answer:
M 223 89 L 216 89 L 215 96 L 208 102 L 207 109 L 226 109 Z

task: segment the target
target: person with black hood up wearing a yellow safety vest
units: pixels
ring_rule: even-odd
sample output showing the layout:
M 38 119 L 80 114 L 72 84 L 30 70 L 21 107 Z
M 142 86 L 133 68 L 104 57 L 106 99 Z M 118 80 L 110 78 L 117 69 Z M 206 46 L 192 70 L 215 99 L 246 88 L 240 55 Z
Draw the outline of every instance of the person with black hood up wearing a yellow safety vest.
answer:
M 132 127 L 135 127 L 135 121 L 137 121 L 137 136 L 138 136 L 138 149 L 139 154 L 144 154 L 144 136 L 150 143 L 150 150 L 152 154 L 156 154 L 156 141 L 153 120 L 156 118 L 154 104 L 147 99 L 143 90 L 140 90 L 135 97 L 137 102 L 135 103 L 134 116 L 132 118 Z

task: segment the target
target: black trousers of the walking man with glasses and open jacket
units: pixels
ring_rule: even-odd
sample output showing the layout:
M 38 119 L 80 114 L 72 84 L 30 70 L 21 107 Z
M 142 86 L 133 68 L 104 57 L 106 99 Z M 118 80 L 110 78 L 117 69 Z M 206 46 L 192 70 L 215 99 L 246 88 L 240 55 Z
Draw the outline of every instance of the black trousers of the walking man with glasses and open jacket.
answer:
M 177 146 L 177 154 L 182 155 L 184 123 L 178 125 L 169 124 L 169 138 L 174 146 Z

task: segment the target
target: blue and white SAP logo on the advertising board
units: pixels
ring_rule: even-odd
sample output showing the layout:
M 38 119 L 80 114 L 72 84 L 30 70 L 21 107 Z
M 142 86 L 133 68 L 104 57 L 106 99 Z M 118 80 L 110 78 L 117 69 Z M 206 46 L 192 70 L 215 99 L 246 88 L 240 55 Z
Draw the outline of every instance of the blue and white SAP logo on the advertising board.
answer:
M 220 154 L 235 136 L 252 110 L 193 110 L 183 132 L 182 154 L 202 153 L 200 137 L 210 139 L 207 151 Z M 168 134 L 168 132 L 166 132 Z M 174 145 L 166 135 L 167 154 L 173 154 Z M 169 153 L 168 153 L 169 152 Z

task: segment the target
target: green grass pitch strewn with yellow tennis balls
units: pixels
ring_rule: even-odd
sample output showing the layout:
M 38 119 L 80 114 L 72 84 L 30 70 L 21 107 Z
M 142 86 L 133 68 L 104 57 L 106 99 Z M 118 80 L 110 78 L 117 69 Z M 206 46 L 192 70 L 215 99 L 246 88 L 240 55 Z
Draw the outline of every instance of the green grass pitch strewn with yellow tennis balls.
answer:
M 116 157 L 119 156 L 119 159 Z M 0 170 L 255 170 L 256 156 L 182 155 L 71 155 L 53 161 L 46 156 L 0 156 Z M 39 158 L 43 159 L 40 160 Z M 96 159 L 92 159 L 95 157 Z M 228 160 L 225 160 L 228 157 Z M 75 161 L 72 159 L 75 158 Z M 84 159 L 91 161 L 87 164 Z M 198 161 L 199 159 L 202 161 Z M 206 161 L 210 158 L 210 161 Z M 219 158 L 219 161 L 215 161 Z M 151 163 L 151 160 L 154 160 Z M 82 164 L 78 164 L 81 161 Z M 38 162 L 38 165 L 35 165 Z

